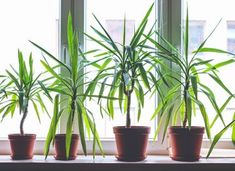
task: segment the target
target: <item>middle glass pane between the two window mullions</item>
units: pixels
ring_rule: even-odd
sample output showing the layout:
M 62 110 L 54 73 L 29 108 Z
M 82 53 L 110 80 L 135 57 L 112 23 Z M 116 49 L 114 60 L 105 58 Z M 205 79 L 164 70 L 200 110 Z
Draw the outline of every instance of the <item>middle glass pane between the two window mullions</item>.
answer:
M 88 0 L 87 1 L 87 23 L 86 29 L 88 34 L 95 35 L 90 26 L 99 28 L 94 20 L 93 13 L 105 26 L 107 31 L 110 33 L 111 37 L 116 42 L 122 41 L 123 34 L 123 19 L 126 15 L 126 43 L 130 42 L 132 35 L 134 34 L 135 28 L 139 25 L 150 5 L 153 3 L 152 0 Z M 133 5 L 134 4 L 134 5 Z M 152 16 L 149 19 L 149 23 L 154 23 L 155 16 L 154 11 L 152 11 Z M 149 24 L 151 25 L 151 24 Z M 151 26 L 149 26 L 150 29 Z M 87 50 L 97 49 L 97 45 L 87 40 L 86 41 Z M 87 68 L 87 71 L 92 70 Z M 92 74 L 90 78 L 92 79 Z M 125 115 L 121 114 L 118 103 L 115 104 L 115 118 L 112 121 L 109 117 L 104 116 L 104 119 L 100 116 L 100 109 L 96 102 L 87 102 L 88 107 L 92 106 L 91 109 L 95 113 L 95 119 L 97 127 L 99 129 L 100 136 L 102 138 L 113 138 L 113 126 L 124 126 L 125 125 Z M 133 101 L 131 106 L 132 115 L 132 125 L 148 125 L 151 126 L 153 137 L 153 132 L 155 128 L 155 121 L 150 121 L 150 116 L 153 114 L 154 108 L 156 107 L 155 99 L 151 100 L 146 98 L 145 108 L 142 111 L 142 116 L 140 122 L 137 122 L 137 103 Z

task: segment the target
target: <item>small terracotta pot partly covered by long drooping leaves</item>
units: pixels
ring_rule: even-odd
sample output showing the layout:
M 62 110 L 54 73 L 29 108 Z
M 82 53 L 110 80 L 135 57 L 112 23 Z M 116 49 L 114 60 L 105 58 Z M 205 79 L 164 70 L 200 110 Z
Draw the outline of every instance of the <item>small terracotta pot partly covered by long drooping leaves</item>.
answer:
M 77 158 L 78 134 L 72 135 L 69 158 L 66 158 L 65 134 L 55 136 L 55 159 L 56 160 L 75 160 Z

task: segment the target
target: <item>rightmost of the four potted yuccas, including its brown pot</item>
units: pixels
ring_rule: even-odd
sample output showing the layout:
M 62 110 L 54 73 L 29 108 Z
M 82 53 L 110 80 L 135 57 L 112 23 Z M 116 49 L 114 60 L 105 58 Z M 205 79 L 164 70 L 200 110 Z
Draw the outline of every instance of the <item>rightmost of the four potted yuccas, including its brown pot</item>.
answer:
M 219 23 L 218 23 L 219 24 Z M 216 27 L 218 26 L 216 25 Z M 223 108 L 219 107 L 213 90 L 207 86 L 206 82 L 200 80 L 201 75 L 208 75 L 212 80 L 215 81 L 223 90 L 229 94 L 229 98 L 233 97 L 233 94 L 224 85 L 222 80 L 219 78 L 217 71 L 224 65 L 231 64 L 234 59 L 228 59 L 220 63 L 214 64 L 212 59 L 205 59 L 199 56 L 201 52 L 212 52 L 212 53 L 227 53 L 223 50 L 215 48 L 204 47 L 208 38 L 213 34 L 216 27 L 210 33 L 210 35 L 200 44 L 198 49 L 193 52 L 192 57 L 188 51 L 189 47 L 189 19 L 188 10 L 186 13 L 185 29 L 184 29 L 184 52 L 175 48 L 166 39 L 164 39 L 157 31 L 156 34 L 159 38 L 159 42 L 148 38 L 156 48 L 156 55 L 163 59 L 172 62 L 176 65 L 179 71 L 172 70 L 171 73 L 166 75 L 166 79 L 170 84 L 173 81 L 173 85 L 164 94 L 160 103 L 155 110 L 152 118 L 159 117 L 160 121 L 158 128 L 155 133 L 159 133 L 159 128 L 164 125 L 163 140 L 169 128 L 169 139 L 171 146 L 170 157 L 173 160 L 182 161 L 196 161 L 200 158 L 200 149 L 202 144 L 202 138 L 204 133 L 204 127 L 192 126 L 193 113 L 196 113 L 196 107 L 199 108 L 202 118 L 205 124 L 205 130 L 207 137 L 211 139 L 210 126 L 211 123 L 208 118 L 205 103 L 202 101 L 203 98 L 207 98 L 211 103 L 211 106 L 215 110 L 217 117 L 224 123 L 222 116 Z M 178 74 L 177 74 L 178 72 Z M 226 106 L 224 103 L 223 106 Z M 179 119 L 180 118 L 180 119 Z M 170 122 L 172 120 L 172 122 Z M 177 125 L 180 120 L 181 125 Z

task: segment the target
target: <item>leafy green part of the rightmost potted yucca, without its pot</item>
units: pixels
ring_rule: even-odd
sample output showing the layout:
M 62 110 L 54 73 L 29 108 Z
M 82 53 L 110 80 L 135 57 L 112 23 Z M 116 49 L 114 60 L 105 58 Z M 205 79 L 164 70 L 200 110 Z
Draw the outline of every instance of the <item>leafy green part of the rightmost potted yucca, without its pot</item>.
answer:
M 220 23 L 220 22 L 219 22 Z M 222 123 L 225 125 L 222 112 L 225 109 L 229 101 L 234 97 L 231 91 L 224 85 L 219 75 L 217 74 L 219 69 L 223 66 L 233 63 L 235 60 L 229 58 L 217 64 L 212 64 L 212 59 L 204 59 L 198 56 L 201 52 L 211 52 L 211 53 L 224 53 L 230 54 L 223 50 L 215 48 L 206 48 L 205 43 L 209 37 L 214 33 L 215 29 L 218 27 L 219 23 L 215 26 L 213 31 L 209 36 L 200 44 L 198 49 L 193 52 L 192 58 L 190 58 L 189 47 L 189 17 L 188 9 L 186 13 L 185 29 L 184 29 L 184 49 L 183 53 L 181 50 L 175 48 L 170 44 L 165 38 L 163 38 L 159 32 L 155 32 L 158 36 L 160 42 L 155 41 L 148 37 L 148 40 L 152 42 L 157 48 L 157 56 L 172 62 L 181 71 L 181 74 L 167 74 L 168 81 L 176 82 L 169 91 L 161 99 L 157 109 L 152 115 L 152 119 L 158 116 L 160 122 L 158 129 L 156 130 L 155 137 L 159 132 L 159 128 L 164 124 L 164 137 L 167 131 L 167 127 L 171 125 L 176 125 L 178 118 L 181 118 L 182 126 L 185 128 L 191 128 L 192 115 L 196 111 L 196 106 L 198 106 L 200 113 L 203 117 L 206 133 L 209 139 L 211 139 L 210 128 L 213 126 L 217 118 L 220 118 Z M 232 55 L 232 54 L 230 54 Z M 229 94 L 228 99 L 224 102 L 222 107 L 217 104 L 216 97 L 213 90 L 206 85 L 205 82 L 200 80 L 201 75 L 208 75 L 212 80 L 215 81 L 224 91 Z M 208 114 L 206 111 L 205 104 L 202 99 L 200 99 L 199 94 L 203 94 L 208 98 L 209 102 L 213 106 L 216 117 L 212 123 L 210 123 Z M 179 102 L 179 103 L 177 103 Z M 162 122 L 166 119 L 165 122 Z M 172 120 L 172 122 L 170 122 Z M 163 139 L 164 139 L 163 137 Z

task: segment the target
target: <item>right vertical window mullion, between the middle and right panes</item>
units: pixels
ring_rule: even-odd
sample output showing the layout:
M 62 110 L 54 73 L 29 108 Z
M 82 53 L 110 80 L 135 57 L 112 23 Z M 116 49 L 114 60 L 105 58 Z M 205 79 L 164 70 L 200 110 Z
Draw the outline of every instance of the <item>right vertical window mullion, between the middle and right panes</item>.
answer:
M 158 1 L 158 28 L 161 35 L 166 38 L 172 45 L 181 48 L 181 21 L 182 21 L 182 0 L 159 0 Z M 159 40 L 160 41 L 160 40 Z M 179 68 L 176 65 L 169 61 L 165 61 L 174 71 L 180 74 Z M 173 74 L 173 73 L 172 73 Z M 179 78 L 180 79 L 180 78 Z M 167 87 L 164 87 L 165 92 L 167 93 Z M 158 100 L 159 102 L 159 100 Z M 177 103 L 177 102 L 176 102 Z M 159 120 L 158 120 L 159 121 Z M 180 124 L 180 121 L 178 122 Z M 162 137 L 164 132 L 164 122 L 163 126 L 159 131 L 158 141 L 160 150 L 168 149 L 168 138 L 166 137 L 162 143 Z

